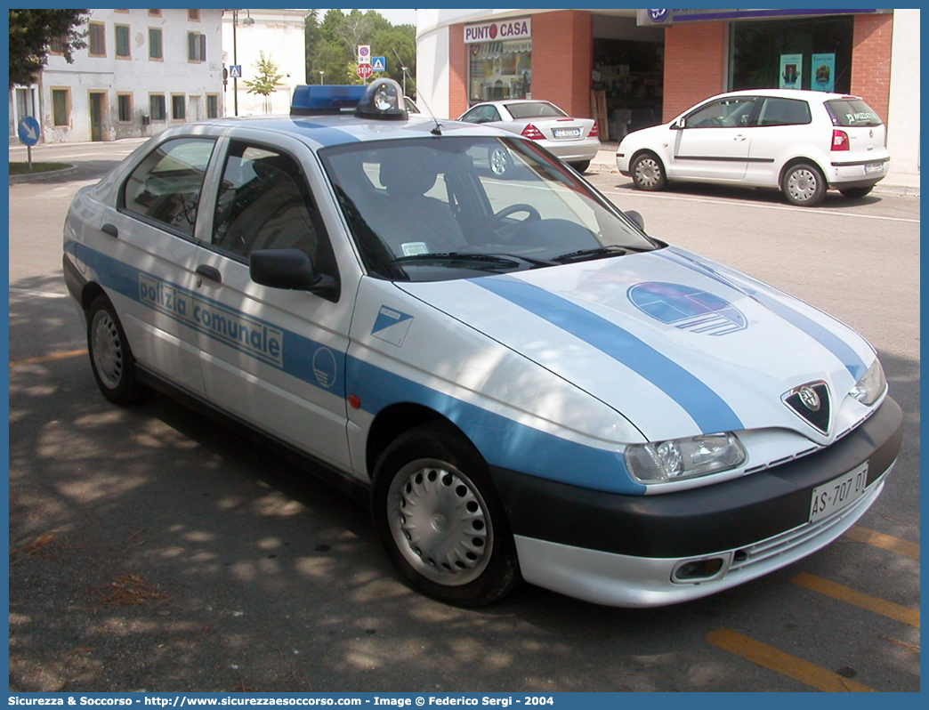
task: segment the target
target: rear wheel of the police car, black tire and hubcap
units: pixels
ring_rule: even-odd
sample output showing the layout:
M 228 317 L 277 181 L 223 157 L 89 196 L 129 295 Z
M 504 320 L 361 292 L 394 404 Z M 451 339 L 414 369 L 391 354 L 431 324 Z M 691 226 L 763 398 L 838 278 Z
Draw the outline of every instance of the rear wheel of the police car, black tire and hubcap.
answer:
M 136 359 L 106 296 L 97 296 L 87 311 L 87 351 L 104 397 L 114 404 L 135 404 L 145 399 L 149 390 L 138 383 Z

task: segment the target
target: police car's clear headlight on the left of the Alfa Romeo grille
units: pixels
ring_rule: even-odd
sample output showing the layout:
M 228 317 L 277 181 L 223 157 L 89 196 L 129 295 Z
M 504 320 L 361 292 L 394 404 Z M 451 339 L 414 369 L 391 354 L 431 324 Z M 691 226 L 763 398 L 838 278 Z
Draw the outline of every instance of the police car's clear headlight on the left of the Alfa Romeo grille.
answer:
M 745 448 L 732 433 L 649 441 L 626 448 L 626 467 L 642 483 L 706 476 L 744 462 Z

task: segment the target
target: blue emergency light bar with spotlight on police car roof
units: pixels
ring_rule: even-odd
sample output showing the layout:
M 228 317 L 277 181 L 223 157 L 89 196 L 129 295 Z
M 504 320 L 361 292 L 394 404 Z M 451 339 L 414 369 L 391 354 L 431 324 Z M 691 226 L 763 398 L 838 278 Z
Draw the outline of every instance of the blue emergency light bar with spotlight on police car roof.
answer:
M 292 116 L 349 112 L 382 121 L 408 118 L 403 92 L 393 79 L 378 79 L 367 86 L 306 84 L 294 88 Z

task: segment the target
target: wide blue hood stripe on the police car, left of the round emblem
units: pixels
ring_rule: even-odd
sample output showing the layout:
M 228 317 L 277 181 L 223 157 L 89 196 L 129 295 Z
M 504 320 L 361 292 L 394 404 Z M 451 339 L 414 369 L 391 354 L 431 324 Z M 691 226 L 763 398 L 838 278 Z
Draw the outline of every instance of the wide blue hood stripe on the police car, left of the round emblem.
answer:
M 705 434 L 738 431 L 739 416 L 695 375 L 624 328 L 538 286 L 509 276 L 471 283 L 550 322 L 644 377 L 671 397 Z

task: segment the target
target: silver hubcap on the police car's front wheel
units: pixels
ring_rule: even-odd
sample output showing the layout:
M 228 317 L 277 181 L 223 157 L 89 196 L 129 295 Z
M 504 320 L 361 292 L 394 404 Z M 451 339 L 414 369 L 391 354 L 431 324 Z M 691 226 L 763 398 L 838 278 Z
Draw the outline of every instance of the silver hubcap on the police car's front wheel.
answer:
M 457 468 L 420 459 L 399 470 L 387 494 L 390 532 L 427 579 L 466 585 L 487 568 L 493 528 L 478 487 Z

